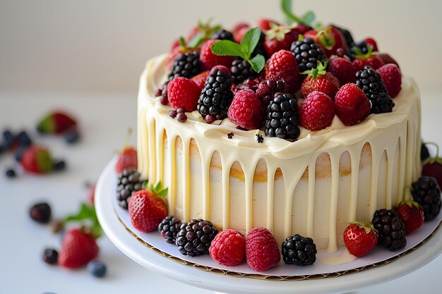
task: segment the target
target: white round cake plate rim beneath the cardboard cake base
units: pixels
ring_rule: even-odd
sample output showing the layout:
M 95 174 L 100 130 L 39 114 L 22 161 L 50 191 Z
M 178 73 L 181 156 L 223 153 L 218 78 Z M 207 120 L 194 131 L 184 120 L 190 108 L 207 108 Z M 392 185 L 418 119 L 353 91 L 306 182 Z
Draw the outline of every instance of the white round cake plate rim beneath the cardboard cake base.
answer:
M 442 229 L 438 229 L 424 245 L 394 262 L 334 278 L 313 276 L 302 281 L 269 281 L 198 270 L 157 254 L 126 230 L 115 213 L 112 201 L 115 192 L 114 185 L 110 183 L 115 180 L 115 161 L 112 159 L 107 164 L 95 190 L 95 209 L 104 233 L 119 250 L 146 269 L 198 288 L 225 293 L 345 293 L 410 274 L 442 252 Z

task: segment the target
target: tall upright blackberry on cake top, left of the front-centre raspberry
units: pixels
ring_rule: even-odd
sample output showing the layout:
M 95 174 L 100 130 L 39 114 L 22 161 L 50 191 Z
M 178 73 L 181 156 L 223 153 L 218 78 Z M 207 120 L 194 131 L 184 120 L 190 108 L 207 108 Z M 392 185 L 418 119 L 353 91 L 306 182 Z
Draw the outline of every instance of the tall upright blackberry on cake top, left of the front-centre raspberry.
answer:
M 223 68 L 217 66 L 212 68 L 196 106 L 201 116 L 210 115 L 217 119 L 227 117 L 227 109 L 233 99 L 231 87 L 232 75 Z

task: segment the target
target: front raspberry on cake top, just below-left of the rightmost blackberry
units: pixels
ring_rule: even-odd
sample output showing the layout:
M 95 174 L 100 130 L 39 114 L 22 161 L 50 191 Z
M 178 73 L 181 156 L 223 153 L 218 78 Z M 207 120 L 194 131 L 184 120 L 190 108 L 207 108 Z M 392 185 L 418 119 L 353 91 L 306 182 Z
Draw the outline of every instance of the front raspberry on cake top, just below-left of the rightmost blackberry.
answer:
M 370 101 L 357 85 L 343 85 L 335 96 L 335 112 L 345 125 L 356 125 L 369 116 Z

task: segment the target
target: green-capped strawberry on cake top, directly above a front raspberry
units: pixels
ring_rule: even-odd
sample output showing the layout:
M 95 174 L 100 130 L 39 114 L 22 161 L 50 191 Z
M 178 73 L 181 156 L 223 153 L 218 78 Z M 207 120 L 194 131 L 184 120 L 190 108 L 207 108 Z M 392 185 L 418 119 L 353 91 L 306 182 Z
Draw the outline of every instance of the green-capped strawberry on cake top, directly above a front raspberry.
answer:
M 335 94 L 339 89 L 339 80 L 331 73 L 325 71 L 327 63 L 318 61 L 318 66 L 312 68 L 301 84 L 301 97 L 307 97 L 313 91 L 323 92 L 331 99 L 335 99 Z M 306 72 L 304 72 L 305 74 Z

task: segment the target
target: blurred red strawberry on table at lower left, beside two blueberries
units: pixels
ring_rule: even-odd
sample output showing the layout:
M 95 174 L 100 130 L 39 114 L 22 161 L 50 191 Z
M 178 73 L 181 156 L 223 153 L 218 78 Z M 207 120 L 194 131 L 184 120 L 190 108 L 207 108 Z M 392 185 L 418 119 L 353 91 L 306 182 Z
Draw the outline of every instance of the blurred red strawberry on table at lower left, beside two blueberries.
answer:
M 98 255 L 98 246 L 92 235 L 73 228 L 61 241 L 59 265 L 68 269 L 83 267 Z

